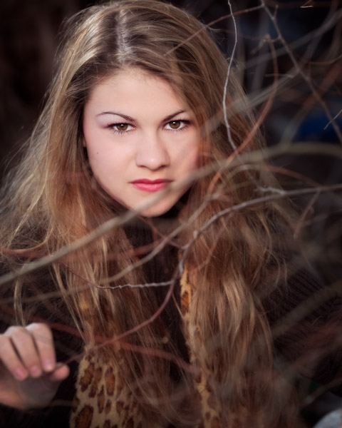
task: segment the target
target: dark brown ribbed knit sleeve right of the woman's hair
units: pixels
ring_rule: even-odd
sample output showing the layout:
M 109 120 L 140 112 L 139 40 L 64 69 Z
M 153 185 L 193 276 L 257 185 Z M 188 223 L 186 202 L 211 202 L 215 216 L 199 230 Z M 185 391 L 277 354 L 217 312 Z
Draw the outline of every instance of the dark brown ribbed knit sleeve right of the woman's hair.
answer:
M 289 266 L 286 281 L 265 301 L 274 347 L 290 370 L 342 394 L 342 298 L 310 267 Z

